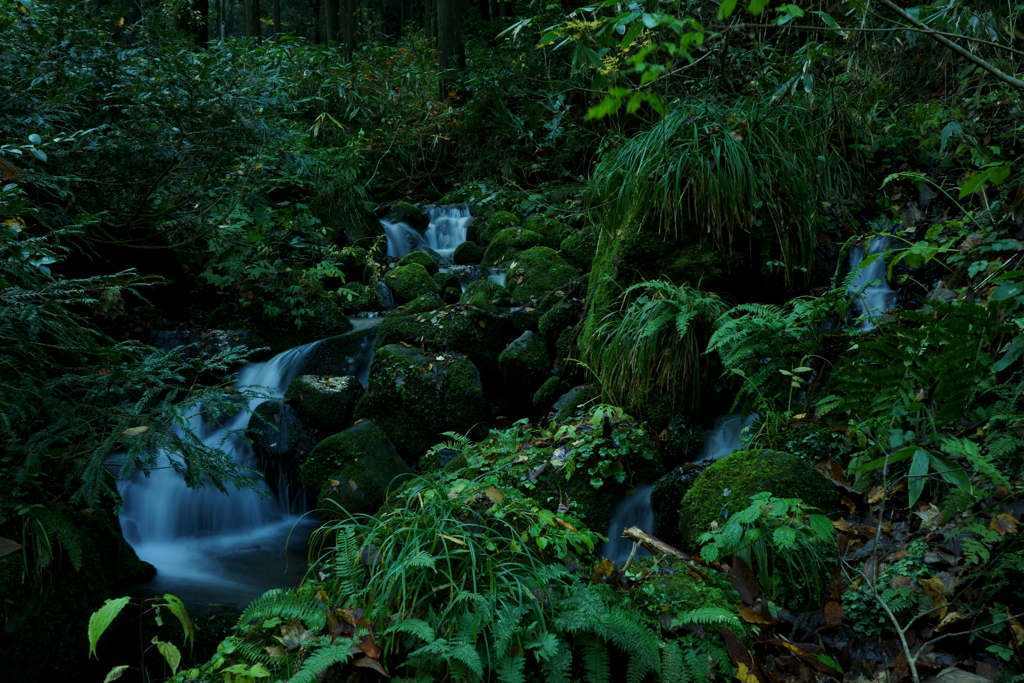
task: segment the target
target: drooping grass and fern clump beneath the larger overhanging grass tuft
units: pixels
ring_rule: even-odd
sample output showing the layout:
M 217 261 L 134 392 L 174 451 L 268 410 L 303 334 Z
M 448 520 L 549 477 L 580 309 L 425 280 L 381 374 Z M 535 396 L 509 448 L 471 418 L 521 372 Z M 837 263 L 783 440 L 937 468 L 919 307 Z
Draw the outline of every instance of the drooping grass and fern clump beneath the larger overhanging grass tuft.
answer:
M 708 371 L 701 357 L 715 319 L 726 310 L 716 295 L 689 285 L 648 281 L 622 294 L 592 334 L 584 362 L 612 402 L 642 410 L 648 396 L 668 394 L 696 409 Z

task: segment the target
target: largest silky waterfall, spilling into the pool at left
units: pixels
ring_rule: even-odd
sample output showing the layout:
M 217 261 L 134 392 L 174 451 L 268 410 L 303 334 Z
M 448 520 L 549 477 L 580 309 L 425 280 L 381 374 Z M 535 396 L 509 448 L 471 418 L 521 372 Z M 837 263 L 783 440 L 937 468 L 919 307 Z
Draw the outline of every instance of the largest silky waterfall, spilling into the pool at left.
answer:
M 315 343 L 285 351 L 266 362 L 245 366 L 237 386 L 262 387 L 271 397 L 283 397 L 313 347 Z M 249 408 L 263 400 L 266 398 L 254 399 Z M 252 447 L 238 436 L 245 431 L 249 417 L 248 412 L 240 411 L 212 422 L 197 405 L 191 429 L 204 443 L 224 451 L 237 464 L 256 468 Z M 157 567 L 153 587 L 158 590 L 197 600 L 244 604 L 290 581 L 285 574 L 289 564 L 298 577 L 305 570 L 301 553 L 293 552 L 293 557 L 287 558 L 284 552 L 286 539 L 304 512 L 296 507 L 302 502 L 273 497 L 262 480 L 257 490 L 230 490 L 229 495 L 212 486 L 188 488 L 163 456 L 150 476 L 136 473 L 131 481 L 120 484 L 120 492 L 125 539 L 141 559 Z M 309 520 L 306 526 L 314 523 Z M 307 530 L 296 531 L 295 538 L 304 539 Z

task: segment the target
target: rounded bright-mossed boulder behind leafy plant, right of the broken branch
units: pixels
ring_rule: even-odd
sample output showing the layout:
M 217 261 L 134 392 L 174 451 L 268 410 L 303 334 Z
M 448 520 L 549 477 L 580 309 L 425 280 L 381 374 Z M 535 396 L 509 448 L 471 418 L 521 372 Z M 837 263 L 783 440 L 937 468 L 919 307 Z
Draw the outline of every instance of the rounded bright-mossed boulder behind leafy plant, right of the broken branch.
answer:
M 695 550 L 697 537 L 751 504 L 751 496 L 770 492 L 778 498 L 799 498 L 824 514 L 836 511 L 839 497 L 828 479 L 806 462 L 778 451 L 737 451 L 717 460 L 703 471 L 683 497 L 679 508 L 679 535 L 687 549 Z

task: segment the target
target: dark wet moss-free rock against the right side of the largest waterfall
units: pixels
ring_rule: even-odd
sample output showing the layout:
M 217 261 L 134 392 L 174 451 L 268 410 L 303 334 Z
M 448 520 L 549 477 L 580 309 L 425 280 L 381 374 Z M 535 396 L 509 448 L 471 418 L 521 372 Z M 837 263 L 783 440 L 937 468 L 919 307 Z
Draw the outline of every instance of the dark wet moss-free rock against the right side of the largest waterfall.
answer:
M 276 486 L 283 474 L 289 490 L 282 498 L 291 500 L 296 493 L 293 487 L 298 488 L 299 468 L 316 445 L 298 412 L 280 400 L 265 400 L 249 417 L 246 437 L 252 441 L 267 484 Z

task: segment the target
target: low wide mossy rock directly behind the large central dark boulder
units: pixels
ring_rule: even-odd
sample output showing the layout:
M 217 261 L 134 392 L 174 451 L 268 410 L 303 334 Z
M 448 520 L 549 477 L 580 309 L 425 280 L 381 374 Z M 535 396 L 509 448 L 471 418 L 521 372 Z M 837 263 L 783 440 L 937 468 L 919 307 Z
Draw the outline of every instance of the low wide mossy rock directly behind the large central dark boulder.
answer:
M 388 315 L 377 332 L 377 348 L 388 344 L 421 344 L 432 351 L 464 354 L 483 373 L 497 374 L 498 354 L 505 348 L 506 322 L 474 306 L 445 306 L 416 315 Z

